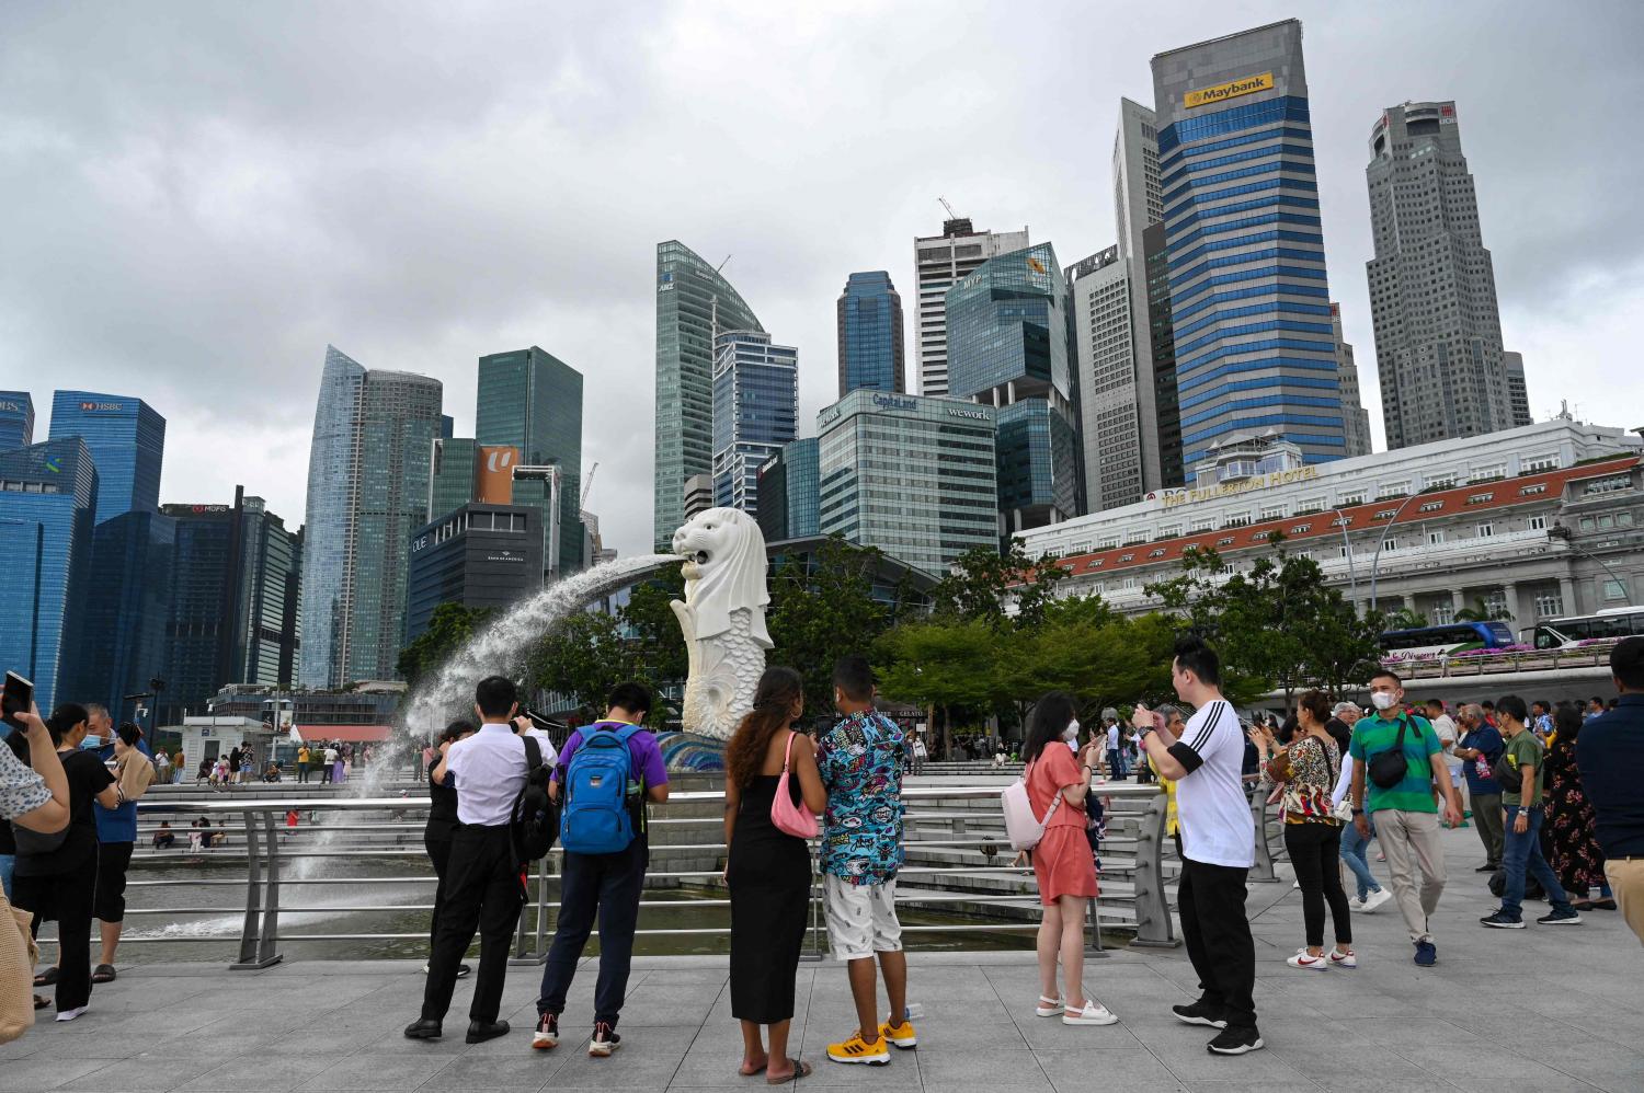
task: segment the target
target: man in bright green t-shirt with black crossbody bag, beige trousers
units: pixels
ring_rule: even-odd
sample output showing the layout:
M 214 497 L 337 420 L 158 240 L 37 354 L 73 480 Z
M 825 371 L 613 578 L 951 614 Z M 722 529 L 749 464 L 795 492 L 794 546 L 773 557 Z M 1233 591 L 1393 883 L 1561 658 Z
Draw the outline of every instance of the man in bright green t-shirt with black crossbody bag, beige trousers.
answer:
M 1430 968 L 1438 960 L 1434 947 L 1432 914 L 1443 894 L 1443 846 L 1438 843 L 1438 797 L 1443 797 L 1447 827 L 1462 822 L 1462 800 L 1445 766 L 1438 733 L 1424 717 L 1404 712 L 1404 682 L 1389 669 L 1378 669 L 1369 679 L 1374 717 L 1353 725 L 1353 827 L 1369 838 L 1369 819 L 1376 817 L 1376 835 L 1392 874 L 1392 897 L 1399 902 L 1404 925 L 1415 945 L 1415 963 Z M 1404 730 L 1404 777 L 1392 786 L 1378 786 L 1368 776 L 1376 756 L 1399 748 Z M 1368 789 L 1368 800 L 1366 800 Z M 1415 874 L 1420 873 L 1417 884 Z

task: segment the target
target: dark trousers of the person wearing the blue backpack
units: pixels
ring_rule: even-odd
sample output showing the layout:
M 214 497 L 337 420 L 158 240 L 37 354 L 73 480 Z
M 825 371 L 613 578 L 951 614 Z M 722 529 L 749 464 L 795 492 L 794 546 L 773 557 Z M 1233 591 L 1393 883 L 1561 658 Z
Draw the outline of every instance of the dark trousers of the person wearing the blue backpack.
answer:
M 559 878 L 559 920 L 554 943 L 543 968 L 543 993 L 536 1011 L 566 1012 L 566 994 L 577 975 L 582 947 L 589 943 L 593 917 L 600 920 L 600 978 L 593 985 L 593 1019 L 615 1026 L 628 994 L 633 963 L 633 932 L 640 925 L 640 892 L 651 850 L 644 837 L 613 855 L 566 851 Z

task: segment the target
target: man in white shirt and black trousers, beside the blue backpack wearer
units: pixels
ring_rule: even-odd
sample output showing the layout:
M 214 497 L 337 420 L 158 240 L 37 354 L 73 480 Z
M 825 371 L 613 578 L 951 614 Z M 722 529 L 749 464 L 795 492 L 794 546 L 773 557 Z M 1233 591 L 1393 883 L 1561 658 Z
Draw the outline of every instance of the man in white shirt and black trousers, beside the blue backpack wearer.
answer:
M 457 988 L 457 966 L 473 942 L 475 929 L 480 932 L 480 973 L 473 983 L 473 1004 L 469 1006 L 469 1044 L 508 1032 L 508 1022 L 498 1021 L 496 1012 L 521 902 L 510 820 L 528 772 L 524 741 L 511 723 L 520 712 L 513 680 L 501 676 L 482 679 L 473 692 L 473 710 L 482 720 L 480 731 L 442 743 L 444 758 L 432 772 L 441 786 L 457 787 L 459 827 L 450 840 L 450 871 L 434 953 L 427 962 L 423 1017 L 406 1026 L 406 1037 L 413 1040 L 441 1037 Z

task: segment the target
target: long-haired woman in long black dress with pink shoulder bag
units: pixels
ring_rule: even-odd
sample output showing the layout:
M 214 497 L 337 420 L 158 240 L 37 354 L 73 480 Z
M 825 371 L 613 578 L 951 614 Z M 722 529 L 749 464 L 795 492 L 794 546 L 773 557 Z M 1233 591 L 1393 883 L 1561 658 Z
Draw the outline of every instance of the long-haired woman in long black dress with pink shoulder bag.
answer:
M 804 708 L 799 672 L 769 667 L 753 694 L 753 710 L 725 746 L 730 1009 L 741 1021 L 740 1073 L 763 1070 L 769 1085 L 810 1073 L 807 1063 L 787 1057 L 794 976 L 810 909 L 810 848 L 771 822 L 784 764 L 794 804 L 812 814 L 827 805 L 815 745 L 792 728 Z M 769 1050 L 760 1026 L 771 1029 Z

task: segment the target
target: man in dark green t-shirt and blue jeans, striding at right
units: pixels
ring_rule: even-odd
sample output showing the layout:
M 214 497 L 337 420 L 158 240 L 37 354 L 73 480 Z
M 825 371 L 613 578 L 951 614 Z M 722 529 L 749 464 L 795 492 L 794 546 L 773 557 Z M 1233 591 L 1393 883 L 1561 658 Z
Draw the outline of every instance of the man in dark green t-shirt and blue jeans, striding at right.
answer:
M 1501 782 L 1503 823 L 1506 837 L 1501 846 L 1501 866 L 1506 869 L 1506 888 L 1501 892 L 1501 909 L 1480 919 L 1498 930 L 1524 929 L 1524 874 L 1532 873 L 1547 892 L 1552 914 L 1535 919 L 1540 925 L 1578 925 L 1582 914 L 1570 906 L 1559 884 L 1559 876 L 1540 851 L 1542 827 L 1542 759 L 1547 746 L 1529 730 L 1529 710 L 1524 699 L 1508 695 L 1496 703 L 1496 720 L 1508 749 L 1501 754 L 1496 781 Z

